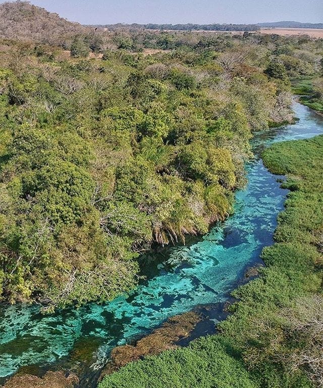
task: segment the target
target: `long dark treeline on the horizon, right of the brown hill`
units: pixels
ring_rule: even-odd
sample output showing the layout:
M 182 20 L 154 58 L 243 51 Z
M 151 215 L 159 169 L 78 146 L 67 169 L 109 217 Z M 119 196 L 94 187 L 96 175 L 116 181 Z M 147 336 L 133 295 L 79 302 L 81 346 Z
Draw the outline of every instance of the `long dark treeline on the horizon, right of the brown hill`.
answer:
M 260 27 L 257 24 L 107 24 L 107 25 L 95 25 L 95 27 L 101 28 L 144 28 L 147 30 L 171 30 L 171 31 L 258 31 Z

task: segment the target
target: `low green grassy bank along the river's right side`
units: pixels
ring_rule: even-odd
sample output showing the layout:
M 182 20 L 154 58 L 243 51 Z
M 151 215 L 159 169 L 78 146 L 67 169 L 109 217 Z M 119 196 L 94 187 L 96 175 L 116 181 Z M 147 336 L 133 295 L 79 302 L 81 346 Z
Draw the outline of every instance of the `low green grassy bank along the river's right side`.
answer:
M 133 362 L 99 388 L 305 388 L 322 383 L 323 136 L 263 154 L 291 192 L 260 277 L 238 288 L 220 334 Z

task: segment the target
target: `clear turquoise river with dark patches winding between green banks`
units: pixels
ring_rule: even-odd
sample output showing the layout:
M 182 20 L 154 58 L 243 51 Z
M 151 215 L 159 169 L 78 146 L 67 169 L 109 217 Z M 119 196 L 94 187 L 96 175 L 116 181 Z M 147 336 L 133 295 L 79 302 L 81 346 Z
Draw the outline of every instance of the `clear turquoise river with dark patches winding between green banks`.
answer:
M 226 301 L 246 268 L 260 262 L 262 248 L 273 243 L 287 193 L 264 168 L 259 153 L 274 141 L 323 133 L 323 118 L 300 104 L 294 109 L 300 118 L 295 125 L 258 133 L 252 140 L 255 158 L 247 165 L 246 188 L 236 193 L 235 214 L 190 246 L 155 255 L 147 280 L 130 296 L 51 316 L 39 314 L 37 306 L 2 308 L 0 377 L 25 365 L 40 370 L 60 362 L 73 365 L 84 349 L 93 353 L 91 368 L 99 369 L 116 345 L 173 315 Z

